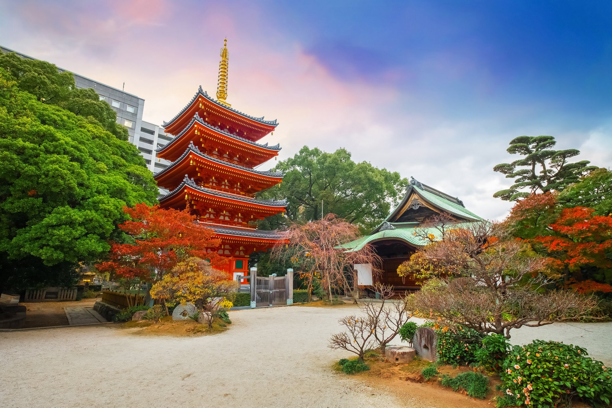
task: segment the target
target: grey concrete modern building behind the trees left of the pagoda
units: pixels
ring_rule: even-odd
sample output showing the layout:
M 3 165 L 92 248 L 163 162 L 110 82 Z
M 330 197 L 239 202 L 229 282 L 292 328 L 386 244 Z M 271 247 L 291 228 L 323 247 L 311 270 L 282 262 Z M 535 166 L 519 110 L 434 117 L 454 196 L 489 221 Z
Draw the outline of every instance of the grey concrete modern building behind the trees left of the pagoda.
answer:
M 22 58 L 36 59 L 29 55 L 0 46 L 2 53 L 17 53 Z M 67 71 L 59 68 L 60 71 Z M 157 158 L 155 149 L 168 143 L 172 138 L 166 136 L 162 127 L 143 121 L 144 99 L 128 92 L 121 91 L 112 86 L 91 80 L 86 76 L 72 73 L 75 78 L 76 87 L 93 88 L 100 100 L 105 100 L 117 113 L 117 123 L 124 125 L 130 135 L 130 143 L 140 150 L 140 154 L 147 163 L 147 168 L 152 172 L 158 172 L 170 164 L 168 161 Z M 163 193 L 163 191 L 162 191 Z

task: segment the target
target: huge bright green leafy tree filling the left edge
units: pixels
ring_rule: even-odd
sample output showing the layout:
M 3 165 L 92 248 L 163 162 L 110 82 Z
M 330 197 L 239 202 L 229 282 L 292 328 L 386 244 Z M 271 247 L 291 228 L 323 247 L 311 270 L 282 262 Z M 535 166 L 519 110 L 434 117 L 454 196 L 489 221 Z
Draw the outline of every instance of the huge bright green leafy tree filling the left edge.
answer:
M 124 206 L 157 201 L 136 147 L 105 130 L 95 109 L 80 108 L 87 94 L 73 91 L 57 70 L 17 81 L 0 66 L 0 286 L 71 283 L 78 262 L 121 241 Z

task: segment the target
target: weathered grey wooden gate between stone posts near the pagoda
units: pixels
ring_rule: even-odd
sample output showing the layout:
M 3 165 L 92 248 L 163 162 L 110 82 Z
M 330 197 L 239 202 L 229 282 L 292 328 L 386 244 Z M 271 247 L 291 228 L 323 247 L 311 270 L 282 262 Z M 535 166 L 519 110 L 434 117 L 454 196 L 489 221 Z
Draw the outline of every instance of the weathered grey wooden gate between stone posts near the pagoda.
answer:
M 251 270 L 251 307 L 293 304 L 293 270 L 286 276 L 257 276 Z

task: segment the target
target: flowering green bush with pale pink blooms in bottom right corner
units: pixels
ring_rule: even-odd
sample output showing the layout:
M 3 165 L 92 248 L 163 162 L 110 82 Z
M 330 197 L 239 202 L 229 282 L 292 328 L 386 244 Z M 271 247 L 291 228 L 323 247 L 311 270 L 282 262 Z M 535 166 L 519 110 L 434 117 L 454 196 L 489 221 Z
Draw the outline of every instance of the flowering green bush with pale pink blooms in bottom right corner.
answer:
M 610 372 L 587 354 L 581 347 L 556 341 L 514 346 L 504 360 L 502 386 L 517 403 L 534 407 L 554 406 L 572 396 L 595 407 L 610 404 Z

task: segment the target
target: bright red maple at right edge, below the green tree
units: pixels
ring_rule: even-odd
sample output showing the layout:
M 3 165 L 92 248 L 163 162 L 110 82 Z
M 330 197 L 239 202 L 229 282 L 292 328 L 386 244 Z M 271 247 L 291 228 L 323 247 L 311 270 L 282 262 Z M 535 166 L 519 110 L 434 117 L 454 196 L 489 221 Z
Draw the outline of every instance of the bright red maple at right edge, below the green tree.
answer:
M 588 207 L 567 208 L 550 224 L 553 236 L 535 239 L 556 258 L 559 268 L 612 269 L 612 217 L 594 215 Z

